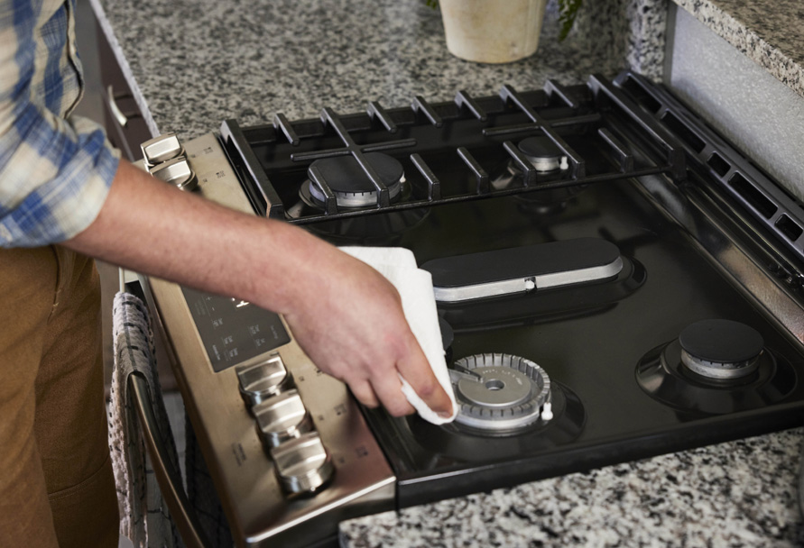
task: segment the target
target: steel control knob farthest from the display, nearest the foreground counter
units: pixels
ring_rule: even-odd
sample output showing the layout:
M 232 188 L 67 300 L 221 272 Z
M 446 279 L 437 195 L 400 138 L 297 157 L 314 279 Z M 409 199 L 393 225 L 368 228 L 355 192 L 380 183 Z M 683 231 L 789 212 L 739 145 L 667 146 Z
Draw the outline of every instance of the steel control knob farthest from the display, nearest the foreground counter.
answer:
M 329 453 L 315 432 L 282 443 L 271 456 L 282 488 L 291 494 L 313 492 L 335 473 Z

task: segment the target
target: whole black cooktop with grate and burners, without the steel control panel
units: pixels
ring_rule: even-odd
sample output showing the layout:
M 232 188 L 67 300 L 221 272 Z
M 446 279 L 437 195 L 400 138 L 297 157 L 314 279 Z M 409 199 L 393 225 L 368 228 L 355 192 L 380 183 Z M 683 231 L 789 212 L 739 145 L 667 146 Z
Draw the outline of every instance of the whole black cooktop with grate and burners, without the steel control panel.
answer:
M 749 247 L 780 257 L 769 245 L 780 234 L 800 251 L 777 230 L 794 208 L 781 209 L 784 196 L 769 205 L 776 191 L 755 185 L 762 176 L 750 162 L 691 130 L 660 95 L 626 74 L 615 85 L 592 77 L 479 99 L 461 92 L 448 104 L 417 98 L 389 111 L 224 124 L 255 211 L 335 244 L 402 246 L 420 265 L 504 257 L 499 269 L 519 274 L 516 250 L 532 262 L 532 246 L 602 249 L 598 241 L 619 252 L 601 276 L 546 285 L 526 276 L 522 290 L 439 302 L 465 420 L 435 426 L 365 411 L 400 506 L 801 423 L 799 341 L 713 260 L 719 244 L 696 240 L 706 231 L 695 227 L 718 227 L 728 246 L 740 231 L 723 227 L 753 217 Z M 706 197 L 690 199 L 696 193 Z M 768 230 L 777 233 L 764 239 Z M 550 262 L 584 270 L 601 262 L 594 254 Z M 469 257 L 443 262 L 460 255 Z

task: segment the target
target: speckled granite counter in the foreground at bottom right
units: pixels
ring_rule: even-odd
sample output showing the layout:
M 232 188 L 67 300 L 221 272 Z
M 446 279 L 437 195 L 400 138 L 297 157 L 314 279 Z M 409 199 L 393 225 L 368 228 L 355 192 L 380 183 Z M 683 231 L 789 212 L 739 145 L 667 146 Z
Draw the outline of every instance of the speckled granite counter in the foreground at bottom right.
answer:
M 444 500 L 341 525 L 351 548 L 799 546 L 801 430 Z

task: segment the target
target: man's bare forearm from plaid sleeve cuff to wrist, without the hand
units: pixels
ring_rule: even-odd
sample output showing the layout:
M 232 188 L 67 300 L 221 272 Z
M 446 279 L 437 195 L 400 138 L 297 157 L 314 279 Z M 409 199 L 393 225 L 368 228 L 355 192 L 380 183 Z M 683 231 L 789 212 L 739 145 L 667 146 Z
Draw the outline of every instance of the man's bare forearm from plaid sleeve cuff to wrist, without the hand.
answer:
M 288 224 L 213 204 L 120 162 L 93 224 L 65 246 L 193 288 L 253 300 L 284 312 L 292 264 L 310 260 L 322 242 Z M 283 260 L 276 260 L 289 249 Z M 233 276 L 233 272 L 243 276 Z M 260 277 L 248 274 L 262 271 Z M 270 290 L 268 290 L 270 288 Z

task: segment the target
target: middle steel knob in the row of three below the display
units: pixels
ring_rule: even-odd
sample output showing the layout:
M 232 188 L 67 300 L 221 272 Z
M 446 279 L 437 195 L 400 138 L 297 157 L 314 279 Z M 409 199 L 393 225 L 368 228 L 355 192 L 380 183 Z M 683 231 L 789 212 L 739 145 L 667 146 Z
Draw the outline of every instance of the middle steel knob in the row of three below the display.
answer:
M 288 390 L 252 407 L 263 443 L 270 449 L 313 429 L 299 392 Z

